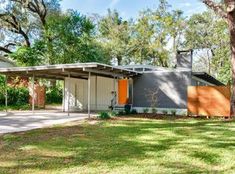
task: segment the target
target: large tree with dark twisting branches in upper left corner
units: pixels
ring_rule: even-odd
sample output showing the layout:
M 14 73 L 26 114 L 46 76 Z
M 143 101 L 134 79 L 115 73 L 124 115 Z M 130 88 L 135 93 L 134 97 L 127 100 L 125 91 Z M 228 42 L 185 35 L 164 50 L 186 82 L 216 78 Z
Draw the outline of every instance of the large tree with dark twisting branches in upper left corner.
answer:
M 5 3 L 4 3 L 5 2 Z M 5 8 L 0 9 L 0 51 L 12 53 L 17 46 L 31 47 L 32 37 L 46 25 L 49 13 L 47 5 L 57 4 L 53 0 L 1 0 Z M 52 10 L 52 9 L 51 9 Z

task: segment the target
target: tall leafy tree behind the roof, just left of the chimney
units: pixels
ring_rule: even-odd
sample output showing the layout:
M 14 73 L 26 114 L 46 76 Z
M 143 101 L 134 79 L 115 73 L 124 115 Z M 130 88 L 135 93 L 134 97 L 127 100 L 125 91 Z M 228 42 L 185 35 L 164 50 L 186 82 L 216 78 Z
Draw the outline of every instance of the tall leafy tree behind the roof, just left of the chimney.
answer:
M 169 67 L 171 54 L 175 57 L 181 40 L 184 18 L 179 10 L 170 10 L 166 0 L 157 9 L 140 13 L 131 38 L 133 62 Z M 173 41 L 172 50 L 168 43 Z

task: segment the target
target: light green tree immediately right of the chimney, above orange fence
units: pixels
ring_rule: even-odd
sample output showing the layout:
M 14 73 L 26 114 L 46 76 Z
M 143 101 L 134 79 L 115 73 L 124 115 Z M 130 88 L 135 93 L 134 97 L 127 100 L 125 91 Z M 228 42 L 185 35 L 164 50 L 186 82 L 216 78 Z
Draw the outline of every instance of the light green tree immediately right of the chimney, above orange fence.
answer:
M 194 49 L 198 57 L 194 68 L 216 76 L 225 84 L 231 80 L 228 32 L 226 21 L 209 10 L 192 15 L 184 35 L 186 49 Z

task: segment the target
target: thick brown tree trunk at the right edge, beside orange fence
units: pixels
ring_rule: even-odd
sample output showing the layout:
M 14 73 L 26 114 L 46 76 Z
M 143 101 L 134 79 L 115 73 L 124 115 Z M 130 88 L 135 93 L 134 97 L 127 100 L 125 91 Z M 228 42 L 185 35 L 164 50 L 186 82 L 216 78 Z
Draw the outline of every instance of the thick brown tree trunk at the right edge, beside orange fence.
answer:
M 231 114 L 235 114 L 235 11 L 228 13 L 228 24 L 231 45 L 231 65 L 232 65 L 232 100 Z

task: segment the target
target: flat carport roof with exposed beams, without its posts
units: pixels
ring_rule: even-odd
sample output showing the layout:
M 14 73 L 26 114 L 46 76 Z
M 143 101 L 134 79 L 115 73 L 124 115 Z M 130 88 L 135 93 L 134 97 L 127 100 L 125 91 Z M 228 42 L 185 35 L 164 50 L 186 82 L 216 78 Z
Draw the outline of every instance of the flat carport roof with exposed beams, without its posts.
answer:
M 140 72 L 110 66 L 101 63 L 75 63 L 75 64 L 59 64 L 47 66 L 30 66 L 30 67 L 10 67 L 0 68 L 0 74 L 8 76 L 21 76 L 47 79 L 63 80 L 64 78 L 82 78 L 87 79 L 89 72 L 92 75 L 103 77 L 133 77 L 140 75 Z

